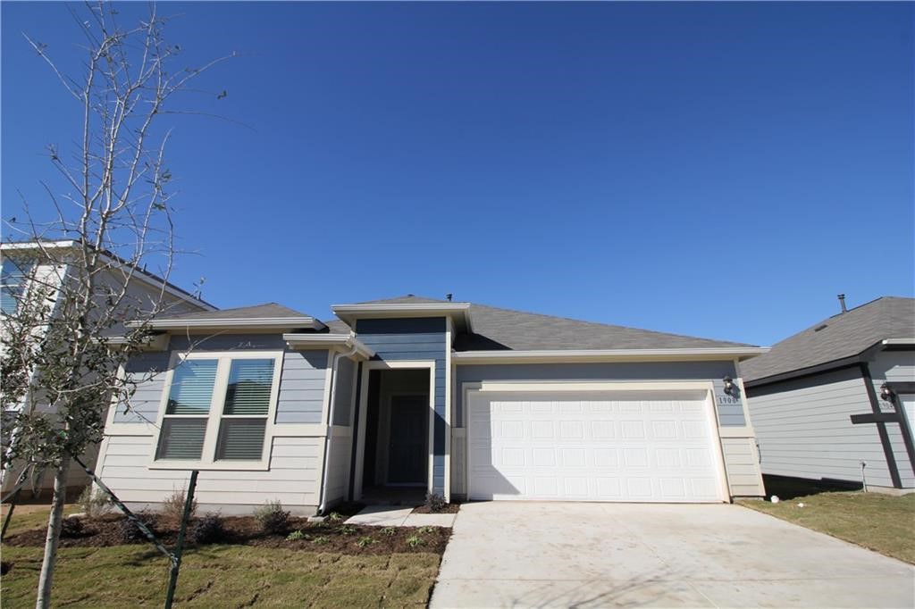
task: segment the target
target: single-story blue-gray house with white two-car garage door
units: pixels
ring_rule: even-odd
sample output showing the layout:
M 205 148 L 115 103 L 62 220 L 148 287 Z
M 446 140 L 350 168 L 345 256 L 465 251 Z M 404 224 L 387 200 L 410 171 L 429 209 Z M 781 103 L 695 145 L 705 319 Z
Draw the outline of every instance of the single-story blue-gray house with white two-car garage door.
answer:
M 414 486 L 447 499 L 764 494 L 739 361 L 765 348 L 414 296 L 164 317 L 99 471 L 155 507 L 299 514 Z

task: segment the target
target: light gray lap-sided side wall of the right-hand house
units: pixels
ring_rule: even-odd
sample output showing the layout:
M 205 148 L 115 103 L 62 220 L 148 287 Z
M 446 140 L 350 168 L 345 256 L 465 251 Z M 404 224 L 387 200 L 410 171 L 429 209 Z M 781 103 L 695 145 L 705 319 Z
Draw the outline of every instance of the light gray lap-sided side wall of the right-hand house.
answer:
M 861 369 L 833 370 L 748 390 L 762 473 L 893 486 L 877 425 L 853 425 L 872 412 Z M 889 426 L 889 425 L 888 425 Z

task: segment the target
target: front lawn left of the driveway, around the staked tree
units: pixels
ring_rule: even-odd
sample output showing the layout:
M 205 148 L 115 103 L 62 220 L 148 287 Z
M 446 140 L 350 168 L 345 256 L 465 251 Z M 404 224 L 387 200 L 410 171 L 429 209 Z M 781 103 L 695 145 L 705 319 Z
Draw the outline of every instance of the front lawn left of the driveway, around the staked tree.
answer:
M 37 528 L 47 521 L 47 511 L 43 516 L 22 515 L 18 523 L 13 516 L 3 548 L 3 561 L 12 563 L 12 570 L 0 582 L 5 608 L 35 604 L 42 553 L 37 545 L 42 531 Z M 371 543 L 363 541 L 370 531 L 361 527 L 306 530 L 308 535 L 298 540 L 261 536 L 243 543 L 189 547 L 176 601 L 207 607 L 425 606 L 448 531 L 409 529 L 409 536 L 422 540 L 413 547 L 400 540 L 406 530 L 372 529 L 377 542 Z M 55 606 L 156 606 L 165 600 L 167 559 L 148 543 L 111 545 L 108 537 L 61 540 L 69 547 L 59 550 Z M 164 537 L 171 538 L 171 532 Z M 315 542 L 318 538 L 324 541 Z

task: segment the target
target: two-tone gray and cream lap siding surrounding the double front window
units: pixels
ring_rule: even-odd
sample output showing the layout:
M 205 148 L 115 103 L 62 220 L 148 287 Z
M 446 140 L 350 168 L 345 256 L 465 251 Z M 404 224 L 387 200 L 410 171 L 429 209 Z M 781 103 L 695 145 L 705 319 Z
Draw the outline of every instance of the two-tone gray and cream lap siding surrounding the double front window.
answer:
M 138 429 L 133 431 L 134 425 L 130 423 L 157 423 L 163 392 L 167 390 L 165 372 L 171 354 L 188 349 L 194 353 L 212 351 L 214 354 L 246 350 L 283 351 L 273 438 L 268 440 L 271 447 L 269 469 L 201 470 L 197 490 L 200 507 L 226 514 L 250 513 L 266 500 L 279 499 L 285 508 L 297 514 L 313 514 L 320 504 L 319 485 L 326 437 L 323 433 L 290 435 L 284 432 L 284 426 L 292 425 L 286 428 L 290 430 L 296 429 L 296 423 L 322 422 L 328 351 L 290 350 L 282 337 L 277 335 L 176 336 L 171 338 L 168 351 L 147 352 L 133 358 L 124 367 L 125 374 L 145 380 L 138 384 L 130 401 L 133 412 L 124 414 L 124 404 L 113 406 L 117 409 L 113 414 L 113 423 L 117 424 L 105 430 L 99 458 L 99 473 L 105 484 L 132 506 L 155 506 L 175 491 L 187 487 L 188 471 L 149 469 L 155 436 L 150 427 L 142 424 L 136 425 Z M 343 368 L 347 369 L 347 366 Z M 151 374 L 153 371 L 155 375 Z M 352 385 L 351 371 L 349 381 L 342 383 L 347 384 Z M 350 401 L 351 393 L 350 390 Z M 347 395 L 345 389 L 343 394 Z M 341 410 L 350 411 L 351 404 L 346 404 Z M 349 438 L 338 440 L 335 452 L 349 451 Z

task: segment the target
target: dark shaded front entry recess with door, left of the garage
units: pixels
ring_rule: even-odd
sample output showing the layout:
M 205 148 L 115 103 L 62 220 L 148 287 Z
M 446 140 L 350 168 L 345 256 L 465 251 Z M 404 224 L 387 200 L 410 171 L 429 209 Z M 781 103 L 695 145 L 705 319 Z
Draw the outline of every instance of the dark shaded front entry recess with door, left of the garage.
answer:
M 428 486 L 429 388 L 428 369 L 370 371 L 361 464 L 364 497 L 403 497 L 403 487 Z

